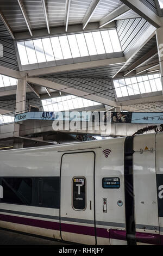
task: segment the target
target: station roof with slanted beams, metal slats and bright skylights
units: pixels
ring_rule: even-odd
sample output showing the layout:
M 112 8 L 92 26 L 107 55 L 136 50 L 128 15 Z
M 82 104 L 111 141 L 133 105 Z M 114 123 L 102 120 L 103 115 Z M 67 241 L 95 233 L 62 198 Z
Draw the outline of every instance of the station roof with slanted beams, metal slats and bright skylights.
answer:
M 24 77 L 27 100 L 61 93 L 161 111 L 155 32 L 162 17 L 159 0 L 2 0 L 0 114 Z

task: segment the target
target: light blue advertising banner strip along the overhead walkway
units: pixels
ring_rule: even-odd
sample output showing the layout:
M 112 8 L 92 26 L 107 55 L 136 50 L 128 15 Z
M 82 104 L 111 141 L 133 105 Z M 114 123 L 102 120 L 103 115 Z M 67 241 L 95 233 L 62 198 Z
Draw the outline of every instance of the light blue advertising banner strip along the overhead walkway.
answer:
M 15 116 L 15 122 L 32 119 L 86 122 L 103 121 L 104 123 L 130 124 L 163 124 L 163 112 L 27 112 L 17 114 Z

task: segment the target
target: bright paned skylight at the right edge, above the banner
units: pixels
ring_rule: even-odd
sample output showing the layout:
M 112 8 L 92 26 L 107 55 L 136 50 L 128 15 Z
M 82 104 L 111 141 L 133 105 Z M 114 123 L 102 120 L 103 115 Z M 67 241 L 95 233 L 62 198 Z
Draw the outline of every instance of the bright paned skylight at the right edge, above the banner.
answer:
M 159 92 L 162 90 L 161 75 L 145 75 L 114 80 L 117 97 Z

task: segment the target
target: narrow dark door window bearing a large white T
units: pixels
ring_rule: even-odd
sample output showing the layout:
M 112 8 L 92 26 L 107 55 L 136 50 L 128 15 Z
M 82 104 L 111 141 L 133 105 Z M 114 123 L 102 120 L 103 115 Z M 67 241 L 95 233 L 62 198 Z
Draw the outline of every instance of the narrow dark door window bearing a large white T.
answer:
M 72 207 L 74 210 L 86 209 L 86 179 L 74 177 L 72 179 Z

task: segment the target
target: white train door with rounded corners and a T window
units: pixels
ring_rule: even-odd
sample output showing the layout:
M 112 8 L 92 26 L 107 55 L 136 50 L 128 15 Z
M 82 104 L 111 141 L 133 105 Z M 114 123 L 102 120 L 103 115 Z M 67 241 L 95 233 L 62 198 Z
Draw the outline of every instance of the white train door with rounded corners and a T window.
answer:
M 92 151 L 62 156 L 60 231 L 64 241 L 96 244 L 94 168 Z

